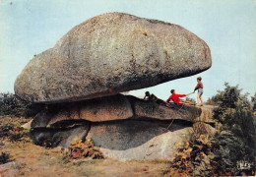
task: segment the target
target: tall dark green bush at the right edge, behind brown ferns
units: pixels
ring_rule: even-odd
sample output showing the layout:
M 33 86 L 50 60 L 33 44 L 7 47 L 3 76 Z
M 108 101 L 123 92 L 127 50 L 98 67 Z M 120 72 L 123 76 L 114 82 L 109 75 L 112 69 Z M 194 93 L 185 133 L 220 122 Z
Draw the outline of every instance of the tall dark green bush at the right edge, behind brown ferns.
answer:
M 214 96 L 220 106 L 214 110 L 214 118 L 219 122 L 220 133 L 213 139 L 212 161 L 219 175 L 248 175 L 254 173 L 255 127 L 248 94 L 241 89 L 224 84 L 225 89 Z M 240 164 L 247 164 L 241 167 Z M 247 171 L 246 171 L 247 170 Z

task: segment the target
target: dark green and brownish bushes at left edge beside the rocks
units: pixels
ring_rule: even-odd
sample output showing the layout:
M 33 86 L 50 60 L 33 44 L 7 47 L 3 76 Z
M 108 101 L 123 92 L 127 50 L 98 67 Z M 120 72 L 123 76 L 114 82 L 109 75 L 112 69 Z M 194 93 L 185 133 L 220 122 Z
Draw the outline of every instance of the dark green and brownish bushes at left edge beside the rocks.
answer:
M 12 93 L 0 93 L 0 138 L 12 142 L 30 142 L 30 132 L 21 126 L 44 108 L 24 101 Z

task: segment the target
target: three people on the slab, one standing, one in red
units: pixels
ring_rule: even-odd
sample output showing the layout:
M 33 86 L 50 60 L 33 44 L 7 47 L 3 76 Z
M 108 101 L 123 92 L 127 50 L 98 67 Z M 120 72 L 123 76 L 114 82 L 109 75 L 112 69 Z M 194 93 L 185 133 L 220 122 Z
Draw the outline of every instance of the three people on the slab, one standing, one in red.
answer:
M 201 81 L 202 81 L 202 78 L 198 77 L 197 78 L 198 84 L 197 84 L 196 88 L 194 89 L 194 91 L 191 92 L 191 93 L 194 93 L 196 90 L 198 90 L 198 94 L 197 94 L 197 103 L 198 104 L 200 104 L 200 102 L 201 102 L 201 104 L 203 104 L 202 94 L 203 94 L 204 90 L 203 90 L 203 84 Z M 163 101 L 160 98 L 158 98 L 155 94 L 151 94 L 149 91 L 146 91 L 144 99 L 151 100 L 151 101 L 157 102 L 158 104 L 165 105 L 165 106 L 169 106 L 170 100 L 172 100 L 175 104 L 192 104 L 191 102 L 189 102 L 187 100 L 180 99 L 180 97 L 187 96 L 191 93 L 177 94 L 175 92 L 175 89 L 171 89 L 170 93 L 171 93 L 171 95 L 168 97 L 168 99 L 166 101 Z

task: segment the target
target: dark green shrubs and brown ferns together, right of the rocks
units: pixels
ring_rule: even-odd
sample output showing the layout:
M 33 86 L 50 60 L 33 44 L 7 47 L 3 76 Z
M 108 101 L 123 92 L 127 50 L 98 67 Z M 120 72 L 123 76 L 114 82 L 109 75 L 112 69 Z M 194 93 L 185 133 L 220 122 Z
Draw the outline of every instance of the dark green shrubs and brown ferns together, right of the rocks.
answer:
M 250 102 L 248 94 L 241 94 L 237 86 L 224 86 L 208 100 L 219 105 L 214 110 L 216 135 L 210 138 L 194 131 L 190 142 L 178 148 L 170 170 L 176 171 L 173 175 L 255 175 L 256 94 Z

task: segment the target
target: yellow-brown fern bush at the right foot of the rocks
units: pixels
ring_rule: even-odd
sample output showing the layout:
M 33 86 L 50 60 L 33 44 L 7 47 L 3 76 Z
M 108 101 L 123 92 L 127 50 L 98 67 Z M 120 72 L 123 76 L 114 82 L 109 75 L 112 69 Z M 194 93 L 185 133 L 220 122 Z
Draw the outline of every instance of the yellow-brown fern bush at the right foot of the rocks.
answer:
M 210 164 L 214 157 L 211 151 L 211 142 L 208 136 L 199 137 L 192 134 L 189 142 L 177 153 L 171 162 L 171 176 L 209 176 L 212 172 Z

